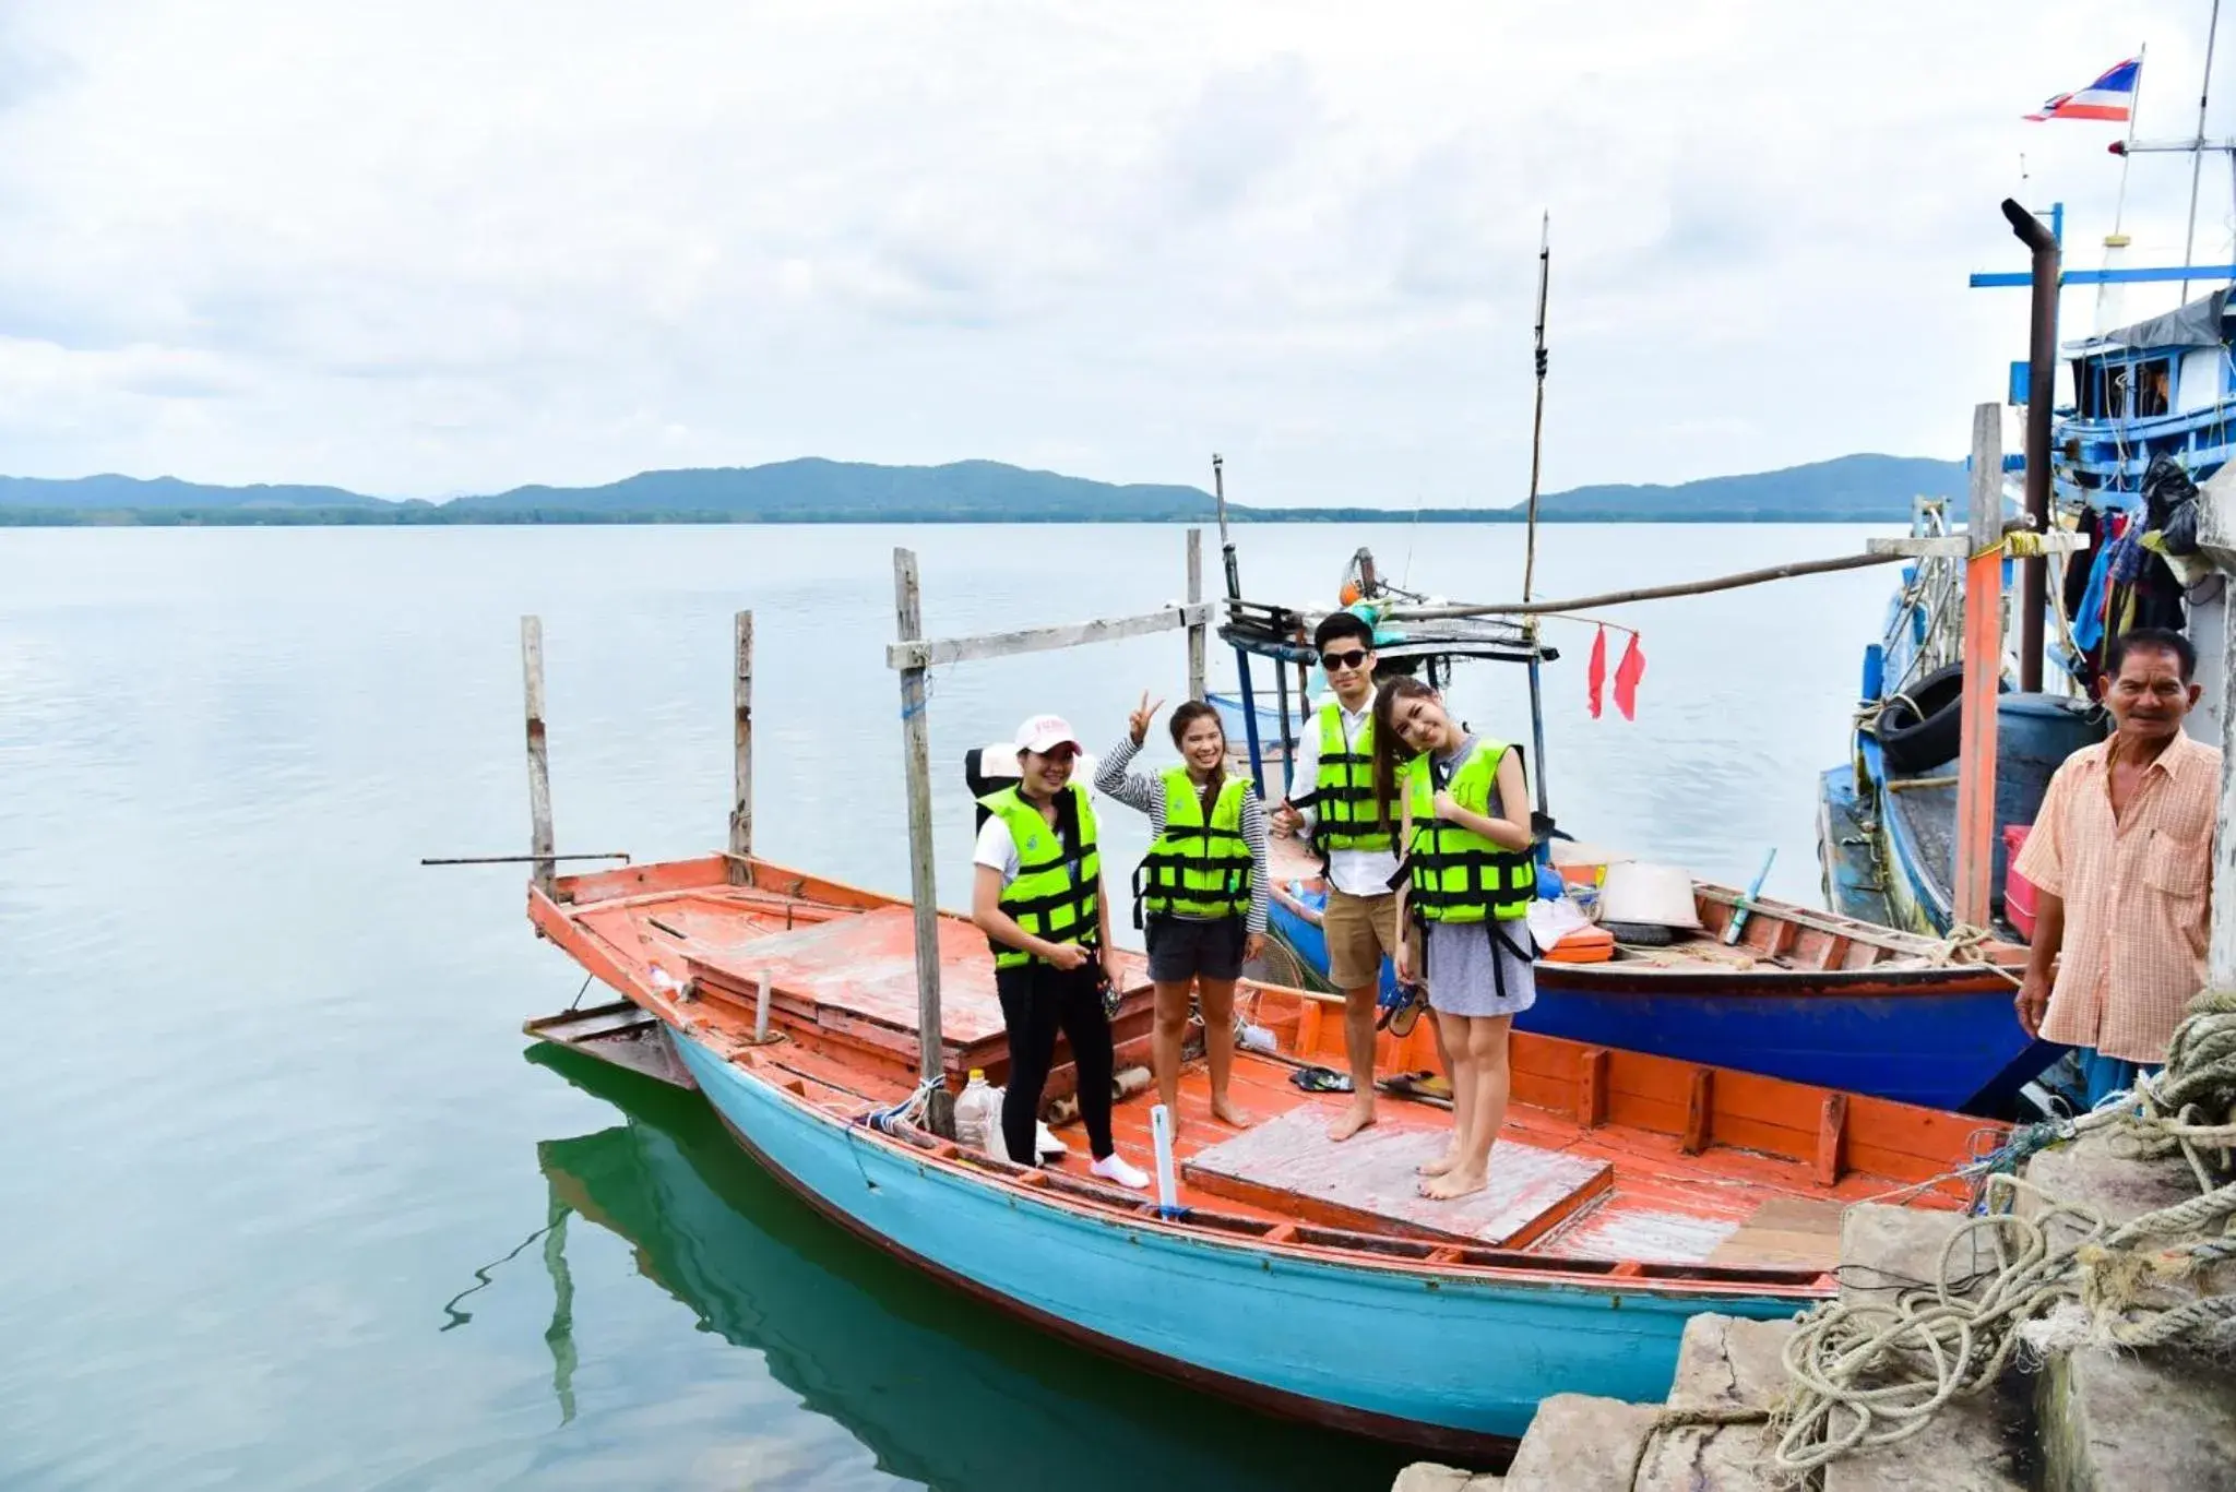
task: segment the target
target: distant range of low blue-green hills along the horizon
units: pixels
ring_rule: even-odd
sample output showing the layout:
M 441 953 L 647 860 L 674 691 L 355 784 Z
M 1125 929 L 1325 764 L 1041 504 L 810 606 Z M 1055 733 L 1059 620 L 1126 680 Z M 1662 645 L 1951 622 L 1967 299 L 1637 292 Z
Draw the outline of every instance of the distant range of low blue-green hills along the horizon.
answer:
M 1916 494 L 1961 494 L 1961 461 L 1838 456 L 1782 472 L 1708 476 L 1673 488 L 1574 488 L 1538 501 L 1554 523 L 1901 523 Z M 1512 508 L 1259 508 L 1252 523 L 1514 523 Z M 999 461 L 868 465 L 778 461 L 754 468 L 639 472 L 601 488 L 512 488 L 447 503 L 389 501 L 342 488 L 208 488 L 174 476 L 0 476 L 0 526 L 197 523 L 1178 523 L 1214 514 L 1212 494 L 1114 485 Z

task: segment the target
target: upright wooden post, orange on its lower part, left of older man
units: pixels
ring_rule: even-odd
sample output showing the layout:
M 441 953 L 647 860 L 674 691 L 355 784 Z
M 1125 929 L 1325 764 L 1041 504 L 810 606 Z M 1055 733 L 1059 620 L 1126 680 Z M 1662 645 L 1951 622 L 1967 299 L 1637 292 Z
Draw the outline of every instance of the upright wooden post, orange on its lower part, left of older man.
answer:
M 1957 922 L 1983 928 L 1995 897 L 1995 709 L 2003 682 L 2003 412 L 1972 409 L 1972 512 L 1963 566 L 1963 727 L 1957 754 Z

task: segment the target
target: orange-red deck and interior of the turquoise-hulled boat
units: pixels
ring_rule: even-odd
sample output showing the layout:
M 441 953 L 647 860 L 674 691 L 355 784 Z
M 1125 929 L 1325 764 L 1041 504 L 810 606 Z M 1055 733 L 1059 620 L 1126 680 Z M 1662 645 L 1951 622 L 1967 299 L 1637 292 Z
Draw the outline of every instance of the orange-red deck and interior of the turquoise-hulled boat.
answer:
M 530 893 L 530 915 L 624 995 L 803 1103 L 854 1118 L 915 1089 L 915 944 L 903 904 L 709 857 L 570 877 L 557 899 Z M 1114 1027 L 1120 1069 L 1149 1060 L 1149 991 L 1138 973 Z M 751 1038 L 762 978 L 780 1031 L 774 1045 Z M 1351 1098 L 1306 1094 L 1290 1078 L 1304 1065 L 1342 1067 L 1339 1009 L 1326 995 L 1248 982 L 1239 1009 L 1279 1047 L 1237 1056 L 1234 1101 L 1259 1123 L 1214 1121 L 1203 1063 L 1190 1063 L 1181 1201 L 1205 1226 L 1266 1244 L 1829 1291 L 1842 1206 L 1905 1190 L 1921 1206 L 1957 1206 L 1965 1188 L 1945 1174 L 2001 1139 L 2001 1125 L 1959 1114 L 1516 1033 L 1514 1107 L 1491 1152 L 1491 1188 L 1427 1201 L 1413 1168 L 1442 1150 L 1449 1109 L 1382 1096 L 1371 1130 L 1330 1143 L 1326 1125 Z M 993 960 L 959 917 L 941 919 L 941 1016 L 950 1085 L 966 1067 L 999 1083 Z M 1380 1038 L 1380 1074 L 1433 1067 L 1427 1022 L 1404 1040 Z M 1051 1098 L 1062 1092 L 1069 1069 L 1049 1087 Z M 1114 1116 L 1120 1150 L 1143 1168 L 1154 1101 L 1136 1089 Z M 1138 1192 L 1087 1177 L 1076 1118 L 1058 1134 L 1071 1156 L 1038 1172 L 921 1143 L 1006 1186 L 1140 1208 Z

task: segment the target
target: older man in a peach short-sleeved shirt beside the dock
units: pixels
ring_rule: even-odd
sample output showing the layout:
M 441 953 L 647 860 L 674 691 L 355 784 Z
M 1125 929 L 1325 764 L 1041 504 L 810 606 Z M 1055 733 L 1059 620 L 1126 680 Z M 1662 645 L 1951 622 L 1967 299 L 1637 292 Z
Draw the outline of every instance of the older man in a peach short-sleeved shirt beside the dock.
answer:
M 2180 633 L 2113 640 L 2117 729 L 2057 767 L 2015 866 L 2041 893 L 2019 1024 L 2082 1049 L 2088 1103 L 2162 1065 L 2205 989 L 2220 752 L 2182 734 L 2196 664 Z

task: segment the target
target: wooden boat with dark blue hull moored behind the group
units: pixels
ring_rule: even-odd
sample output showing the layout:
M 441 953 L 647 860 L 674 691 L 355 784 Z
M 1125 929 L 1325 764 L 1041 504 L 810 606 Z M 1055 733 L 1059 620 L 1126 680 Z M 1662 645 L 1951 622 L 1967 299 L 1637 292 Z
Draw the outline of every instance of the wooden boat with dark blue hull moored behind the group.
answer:
M 1295 839 L 1277 839 L 1275 875 L 1270 926 L 1324 984 L 1317 866 Z M 1603 964 L 1538 960 L 1538 1000 L 1514 1029 L 1979 1114 L 2010 1112 L 2057 1054 L 2012 1018 L 2021 946 L 1952 948 L 1769 897 L 1726 946 L 1742 893 L 1695 881 L 1693 901 L 1702 928 L 1675 944 L 1617 944 Z

